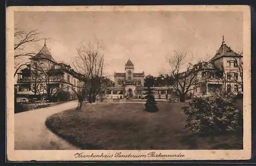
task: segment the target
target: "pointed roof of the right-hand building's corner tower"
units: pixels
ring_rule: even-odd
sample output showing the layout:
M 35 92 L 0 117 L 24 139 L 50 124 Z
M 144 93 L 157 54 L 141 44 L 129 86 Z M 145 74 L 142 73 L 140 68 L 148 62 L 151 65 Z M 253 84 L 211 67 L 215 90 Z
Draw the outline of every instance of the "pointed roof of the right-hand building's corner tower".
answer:
M 217 50 L 215 56 L 210 61 L 217 60 L 221 57 L 238 57 L 238 56 L 240 56 L 240 54 L 234 52 L 229 46 L 222 43 L 220 48 Z

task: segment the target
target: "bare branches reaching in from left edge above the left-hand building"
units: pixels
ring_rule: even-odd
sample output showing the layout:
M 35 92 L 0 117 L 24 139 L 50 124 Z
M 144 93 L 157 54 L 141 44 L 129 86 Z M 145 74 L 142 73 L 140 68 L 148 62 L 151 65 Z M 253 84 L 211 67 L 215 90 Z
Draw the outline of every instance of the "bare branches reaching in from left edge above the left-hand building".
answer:
M 28 64 L 26 62 L 27 58 L 36 54 L 36 52 L 26 51 L 26 46 L 42 40 L 38 37 L 39 34 L 38 30 L 26 32 L 19 30 L 17 27 L 14 29 L 14 77 L 20 69 Z

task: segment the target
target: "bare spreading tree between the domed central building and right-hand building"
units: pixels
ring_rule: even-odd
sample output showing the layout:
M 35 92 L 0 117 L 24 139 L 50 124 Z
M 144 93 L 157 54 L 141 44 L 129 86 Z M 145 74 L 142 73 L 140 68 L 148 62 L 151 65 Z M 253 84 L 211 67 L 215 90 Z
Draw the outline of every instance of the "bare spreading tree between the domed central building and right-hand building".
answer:
M 195 90 L 201 86 L 198 73 L 201 71 L 206 62 L 197 62 L 193 65 L 188 60 L 187 53 L 184 51 L 174 51 L 174 56 L 167 58 L 167 62 L 171 67 L 174 84 L 174 94 L 180 97 L 180 102 L 185 102 L 185 96 L 188 92 Z M 191 56 L 191 58 L 193 58 Z

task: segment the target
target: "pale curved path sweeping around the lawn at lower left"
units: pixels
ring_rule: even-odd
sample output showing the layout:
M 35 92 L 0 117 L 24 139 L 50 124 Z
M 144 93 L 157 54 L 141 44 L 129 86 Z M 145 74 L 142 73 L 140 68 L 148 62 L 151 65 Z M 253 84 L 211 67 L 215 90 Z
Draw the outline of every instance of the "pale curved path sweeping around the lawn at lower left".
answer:
M 48 108 L 29 110 L 14 114 L 14 149 L 15 150 L 75 150 L 67 141 L 52 133 L 45 126 L 46 118 L 75 108 L 77 101 L 70 101 Z

